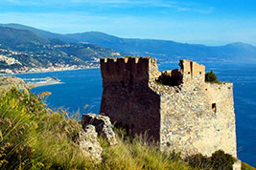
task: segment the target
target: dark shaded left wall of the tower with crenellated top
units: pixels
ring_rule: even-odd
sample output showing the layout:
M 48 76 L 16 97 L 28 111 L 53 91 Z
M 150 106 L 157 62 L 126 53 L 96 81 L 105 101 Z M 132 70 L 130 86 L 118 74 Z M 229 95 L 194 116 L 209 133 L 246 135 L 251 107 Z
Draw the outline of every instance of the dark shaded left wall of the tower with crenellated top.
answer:
M 128 129 L 131 135 L 148 133 L 159 140 L 160 96 L 148 83 L 158 72 L 152 58 L 101 59 L 104 92 L 101 113 L 112 123 Z

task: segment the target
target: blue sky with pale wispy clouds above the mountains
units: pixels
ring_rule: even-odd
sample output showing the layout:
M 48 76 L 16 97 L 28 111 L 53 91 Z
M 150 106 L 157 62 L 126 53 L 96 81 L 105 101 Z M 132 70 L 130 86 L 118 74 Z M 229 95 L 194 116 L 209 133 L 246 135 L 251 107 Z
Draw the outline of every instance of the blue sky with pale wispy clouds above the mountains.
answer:
M 50 32 L 256 46 L 255 0 L 1 0 L 0 23 Z

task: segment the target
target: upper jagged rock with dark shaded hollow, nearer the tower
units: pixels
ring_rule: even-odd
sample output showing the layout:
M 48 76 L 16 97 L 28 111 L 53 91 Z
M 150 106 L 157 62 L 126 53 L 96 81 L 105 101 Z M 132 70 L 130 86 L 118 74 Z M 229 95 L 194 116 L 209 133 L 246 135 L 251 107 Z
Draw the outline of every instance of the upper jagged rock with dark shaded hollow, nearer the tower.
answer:
M 87 125 L 93 125 L 96 128 L 96 132 L 99 135 L 102 135 L 110 145 L 117 144 L 115 133 L 112 129 L 112 124 L 109 117 L 95 115 L 95 114 L 86 114 L 81 117 L 81 125 L 85 130 Z

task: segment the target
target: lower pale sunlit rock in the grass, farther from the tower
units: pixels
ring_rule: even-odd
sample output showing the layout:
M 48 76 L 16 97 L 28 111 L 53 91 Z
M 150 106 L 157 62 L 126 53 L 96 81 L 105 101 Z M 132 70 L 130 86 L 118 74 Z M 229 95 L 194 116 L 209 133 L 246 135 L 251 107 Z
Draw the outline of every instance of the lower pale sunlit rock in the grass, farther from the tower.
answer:
M 74 138 L 75 143 L 77 143 L 81 149 L 81 153 L 84 157 L 100 162 L 102 160 L 103 148 L 98 141 L 98 134 L 93 125 L 86 125 L 84 131 L 81 131 Z

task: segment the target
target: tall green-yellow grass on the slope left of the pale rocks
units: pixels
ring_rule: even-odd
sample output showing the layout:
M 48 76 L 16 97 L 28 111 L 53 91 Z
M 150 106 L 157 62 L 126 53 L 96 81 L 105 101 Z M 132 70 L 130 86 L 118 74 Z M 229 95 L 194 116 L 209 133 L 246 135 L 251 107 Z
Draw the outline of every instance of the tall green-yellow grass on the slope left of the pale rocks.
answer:
M 72 137 L 81 130 L 64 112 L 15 88 L 0 93 L 0 169 L 76 169 L 88 164 Z

